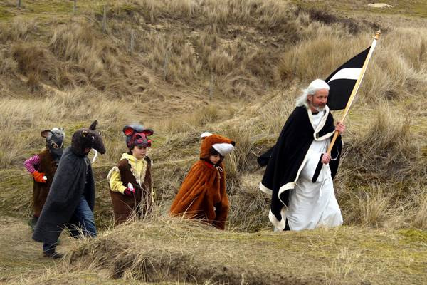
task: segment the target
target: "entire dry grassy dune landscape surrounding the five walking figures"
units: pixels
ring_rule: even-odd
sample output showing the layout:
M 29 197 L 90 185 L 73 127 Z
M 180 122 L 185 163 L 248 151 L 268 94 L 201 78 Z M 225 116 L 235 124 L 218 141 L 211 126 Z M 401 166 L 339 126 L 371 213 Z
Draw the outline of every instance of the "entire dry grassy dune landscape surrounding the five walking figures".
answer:
M 427 1 L 22 3 L 0 4 L 0 282 L 426 282 Z M 301 89 L 367 48 L 379 28 L 334 183 L 345 226 L 273 234 L 255 157 L 275 143 Z M 68 146 L 95 119 L 107 148 L 93 165 L 101 236 L 63 235 L 67 258 L 46 261 L 26 227 L 23 160 L 43 149 L 41 130 L 65 127 Z M 112 230 L 106 175 L 134 122 L 155 131 L 157 217 Z M 226 158 L 226 232 L 167 217 L 206 130 L 237 145 Z

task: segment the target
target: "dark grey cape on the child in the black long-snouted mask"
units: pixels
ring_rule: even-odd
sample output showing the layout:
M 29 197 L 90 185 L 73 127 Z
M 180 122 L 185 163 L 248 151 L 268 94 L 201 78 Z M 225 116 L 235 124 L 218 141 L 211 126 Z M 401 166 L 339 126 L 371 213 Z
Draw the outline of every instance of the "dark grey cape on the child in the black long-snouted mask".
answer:
M 84 193 L 90 209 L 95 205 L 95 182 L 86 155 L 76 155 L 71 147 L 63 152 L 46 203 L 38 218 L 33 239 L 56 243 L 65 226 L 73 224 L 73 214 Z M 70 227 L 73 229 L 74 227 Z

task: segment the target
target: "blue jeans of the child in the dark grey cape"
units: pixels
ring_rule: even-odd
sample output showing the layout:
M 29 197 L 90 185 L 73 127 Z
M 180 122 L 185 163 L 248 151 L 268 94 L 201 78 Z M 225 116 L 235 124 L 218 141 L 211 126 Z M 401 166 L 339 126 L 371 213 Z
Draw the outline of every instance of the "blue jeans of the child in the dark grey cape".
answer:
M 93 216 L 93 212 L 89 207 L 88 202 L 86 201 L 84 196 L 80 197 L 80 201 L 78 203 L 77 208 L 75 208 L 73 218 L 73 222 L 78 224 L 78 227 L 83 232 L 85 237 L 96 237 L 97 230 L 95 226 L 95 217 Z M 71 233 L 73 236 L 80 235 L 80 231 L 78 229 L 71 229 Z M 55 252 L 57 242 L 54 243 L 43 243 L 43 252 L 52 253 Z

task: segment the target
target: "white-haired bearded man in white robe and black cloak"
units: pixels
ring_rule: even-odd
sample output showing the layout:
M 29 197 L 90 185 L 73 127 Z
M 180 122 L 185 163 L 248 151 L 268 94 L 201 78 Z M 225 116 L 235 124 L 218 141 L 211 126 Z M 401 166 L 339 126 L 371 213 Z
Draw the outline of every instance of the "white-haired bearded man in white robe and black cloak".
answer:
M 260 190 L 273 195 L 269 218 L 276 231 L 337 227 L 342 224 L 327 148 L 334 131 L 341 134 L 345 126 L 342 123 L 333 125 L 326 105 L 328 93 L 327 83 L 316 79 L 297 99 L 296 109 L 283 127 L 270 157 L 272 161 L 268 162 L 263 182 L 260 183 Z M 302 147 L 298 149 L 299 142 Z M 336 157 L 332 161 L 339 158 L 339 150 L 340 147 L 333 151 Z M 312 182 L 320 161 L 320 174 Z M 334 174 L 338 162 L 334 165 Z

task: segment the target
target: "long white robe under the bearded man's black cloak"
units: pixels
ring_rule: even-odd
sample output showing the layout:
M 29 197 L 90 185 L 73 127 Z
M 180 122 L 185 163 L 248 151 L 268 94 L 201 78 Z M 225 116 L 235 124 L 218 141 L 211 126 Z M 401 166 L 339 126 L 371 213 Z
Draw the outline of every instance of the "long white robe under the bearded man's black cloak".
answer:
M 322 112 L 312 115 L 313 128 L 322 118 Z M 313 140 L 307 152 L 307 161 L 300 172 L 295 189 L 290 192 L 286 219 L 291 230 L 337 227 L 342 224 L 341 210 L 335 198 L 329 165 L 323 165 L 317 182 L 312 182 L 320 155 L 327 151 L 330 138 Z

